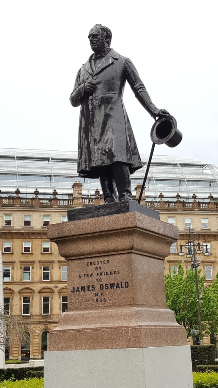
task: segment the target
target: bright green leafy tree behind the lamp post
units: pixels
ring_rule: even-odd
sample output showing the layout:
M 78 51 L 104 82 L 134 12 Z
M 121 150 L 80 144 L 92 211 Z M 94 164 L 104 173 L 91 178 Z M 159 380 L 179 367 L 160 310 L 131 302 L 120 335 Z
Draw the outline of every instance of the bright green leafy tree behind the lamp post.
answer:
M 201 305 L 202 329 L 208 329 L 216 332 L 218 329 L 218 277 L 216 284 L 205 288 L 204 282 L 206 275 L 200 275 L 201 270 L 197 270 L 199 300 Z M 171 271 L 165 276 L 166 304 L 173 310 L 178 324 L 183 325 L 187 332 L 187 338 L 190 337 L 192 329 L 198 329 L 197 322 L 197 297 L 194 271 L 183 270 L 178 262 L 178 274 Z

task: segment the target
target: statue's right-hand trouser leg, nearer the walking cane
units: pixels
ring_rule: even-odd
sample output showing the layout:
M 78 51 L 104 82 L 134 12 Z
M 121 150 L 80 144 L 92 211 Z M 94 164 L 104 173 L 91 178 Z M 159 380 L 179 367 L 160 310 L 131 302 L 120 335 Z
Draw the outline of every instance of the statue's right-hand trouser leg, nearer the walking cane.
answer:
M 116 162 L 111 167 L 119 194 L 119 201 L 132 199 L 129 165 L 127 163 Z

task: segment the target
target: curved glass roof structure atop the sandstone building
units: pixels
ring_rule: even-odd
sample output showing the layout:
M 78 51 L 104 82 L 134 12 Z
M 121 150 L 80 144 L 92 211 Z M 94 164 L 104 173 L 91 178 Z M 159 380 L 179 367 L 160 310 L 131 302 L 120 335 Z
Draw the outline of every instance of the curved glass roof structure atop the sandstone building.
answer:
M 142 183 L 149 155 L 141 155 L 143 167 L 131 175 L 132 193 Z M 37 188 L 40 197 L 52 197 L 54 189 L 59 198 L 71 198 L 72 185 L 80 180 L 84 196 L 95 196 L 100 190 L 98 179 L 78 178 L 77 152 L 34 149 L 0 149 L 1 196 L 15 195 L 19 187 L 21 197 L 32 197 Z M 165 200 L 190 201 L 193 193 L 197 200 L 208 202 L 211 193 L 218 201 L 218 167 L 202 160 L 174 156 L 153 156 L 146 181 L 145 197 L 158 200 L 160 192 Z

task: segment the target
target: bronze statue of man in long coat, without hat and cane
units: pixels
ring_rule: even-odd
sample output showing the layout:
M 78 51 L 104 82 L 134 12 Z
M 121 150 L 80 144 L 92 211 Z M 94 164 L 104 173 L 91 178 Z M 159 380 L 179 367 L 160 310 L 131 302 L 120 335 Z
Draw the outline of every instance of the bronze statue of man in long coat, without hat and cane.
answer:
M 142 167 L 123 91 L 128 81 L 135 97 L 155 119 L 157 109 L 130 61 L 111 49 L 112 33 L 95 24 L 88 39 L 94 54 L 76 75 L 70 102 L 81 105 L 78 137 L 79 177 L 99 178 L 104 202 L 131 199 L 130 174 Z

